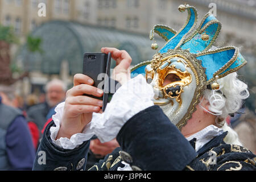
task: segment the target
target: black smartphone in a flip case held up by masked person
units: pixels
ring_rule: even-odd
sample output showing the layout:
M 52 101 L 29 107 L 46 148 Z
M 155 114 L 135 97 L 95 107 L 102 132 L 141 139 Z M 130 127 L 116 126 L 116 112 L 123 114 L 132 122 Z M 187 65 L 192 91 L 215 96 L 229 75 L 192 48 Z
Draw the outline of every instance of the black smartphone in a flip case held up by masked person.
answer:
M 109 90 L 104 88 L 108 84 L 110 78 L 111 53 L 85 53 L 82 73 L 94 80 L 93 86 L 103 89 L 103 97 L 87 95 L 103 101 L 102 111 L 106 109 L 109 101 Z

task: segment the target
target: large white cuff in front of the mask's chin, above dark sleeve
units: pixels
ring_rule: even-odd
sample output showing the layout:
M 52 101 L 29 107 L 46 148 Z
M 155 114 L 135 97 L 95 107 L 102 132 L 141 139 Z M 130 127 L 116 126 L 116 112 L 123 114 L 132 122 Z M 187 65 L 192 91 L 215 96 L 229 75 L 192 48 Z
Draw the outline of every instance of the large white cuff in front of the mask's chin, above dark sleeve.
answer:
M 115 92 L 104 113 L 93 113 L 90 128 L 98 139 L 108 142 L 114 139 L 121 127 L 135 114 L 154 105 L 154 91 L 146 79 L 139 75 Z

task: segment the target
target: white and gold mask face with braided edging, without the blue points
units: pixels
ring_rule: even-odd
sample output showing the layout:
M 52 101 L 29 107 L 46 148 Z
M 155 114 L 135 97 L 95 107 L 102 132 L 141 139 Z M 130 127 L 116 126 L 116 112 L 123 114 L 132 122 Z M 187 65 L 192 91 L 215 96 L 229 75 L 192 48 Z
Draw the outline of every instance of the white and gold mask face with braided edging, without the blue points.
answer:
M 181 129 L 192 117 L 205 89 L 206 77 L 199 61 L 180 49 L 156 53 L 145 73 L 155 93 L 154 104 Z

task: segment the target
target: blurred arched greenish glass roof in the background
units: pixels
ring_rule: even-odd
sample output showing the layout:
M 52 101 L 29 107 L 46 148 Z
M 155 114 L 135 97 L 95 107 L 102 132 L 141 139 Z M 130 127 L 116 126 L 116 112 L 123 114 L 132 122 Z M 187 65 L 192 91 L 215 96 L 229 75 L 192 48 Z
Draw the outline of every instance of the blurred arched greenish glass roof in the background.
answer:
M 133 65 L 150 60 L 156 51 L 150 48 L 148 35 L 115 30 L 114 28 L 84 25 L 76 22 L 51 21 L 36 28 L 31 35 L 42 39 L 43 53 L 30 53 L 26 45 L 16 59 L 27 71 L 59 74 L 62 61 L 68 61 L 71 75 L 82 72 L 85 52 L 100 52 L 101 47 L 125 49 L 133 58 Z M 156 39 L 159 46 L 162 39 Z M 114 61 L 112 61 L 114 67 Z

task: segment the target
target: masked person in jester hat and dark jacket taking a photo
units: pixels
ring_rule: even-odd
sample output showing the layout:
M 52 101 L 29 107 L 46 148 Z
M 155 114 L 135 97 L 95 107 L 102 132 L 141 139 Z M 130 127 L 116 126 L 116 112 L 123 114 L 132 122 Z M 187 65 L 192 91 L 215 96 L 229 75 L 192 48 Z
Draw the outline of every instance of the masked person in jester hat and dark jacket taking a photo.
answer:
M 256 155 L 225 121 L 249 97 L 236 73 L 246 60 L 236 47 L 213 47 L 221 24 L 212 14 L 195 29 L 195 7 L 179 10 L 188 19 L 178 32 L 163 25 L 150 32 L 151 40 L 155 32 L 167 40 L 151 61 L 130 70 L 126 51 L 101 49 L 117 61 L 113 77 L 122 84 L 104 113 L 101 101 L 82 96 L 102 96 L 102 90 L 86 75 L 74 77 L 39 146 L 48 161 L 36 159 L 34 170 L 84 169 L 93 135 L 101 142 L 117 138 L 120 147 L 89 170 L 256 169 Z

